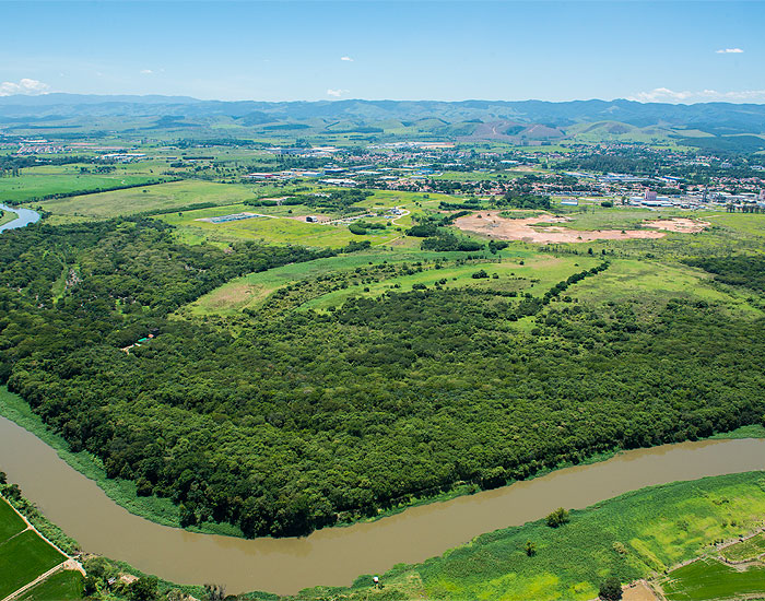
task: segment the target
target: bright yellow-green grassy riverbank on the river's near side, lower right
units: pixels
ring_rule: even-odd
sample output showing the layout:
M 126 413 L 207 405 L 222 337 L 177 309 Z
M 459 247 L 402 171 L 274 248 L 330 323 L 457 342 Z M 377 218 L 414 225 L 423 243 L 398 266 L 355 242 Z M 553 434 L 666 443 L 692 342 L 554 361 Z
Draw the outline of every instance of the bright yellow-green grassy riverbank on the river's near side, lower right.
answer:
M 361 576 L 352 587 L 317 587 L 294 599 L 592 599 L 608 576 L 628 582 L 661 573 L 761 527 L 764 514 L 765 472 L 652 486 L 572 511 L 561 528 L 538 520 L 397 566 L 381 576 L 381 591 Z

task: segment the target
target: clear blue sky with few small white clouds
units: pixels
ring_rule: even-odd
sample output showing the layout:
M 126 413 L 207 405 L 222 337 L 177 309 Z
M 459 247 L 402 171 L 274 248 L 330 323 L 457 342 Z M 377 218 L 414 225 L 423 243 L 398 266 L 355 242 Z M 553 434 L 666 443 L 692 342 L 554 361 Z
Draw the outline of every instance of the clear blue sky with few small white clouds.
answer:
M 765 1 L 0 0 L 0 95 L 765 103 Z

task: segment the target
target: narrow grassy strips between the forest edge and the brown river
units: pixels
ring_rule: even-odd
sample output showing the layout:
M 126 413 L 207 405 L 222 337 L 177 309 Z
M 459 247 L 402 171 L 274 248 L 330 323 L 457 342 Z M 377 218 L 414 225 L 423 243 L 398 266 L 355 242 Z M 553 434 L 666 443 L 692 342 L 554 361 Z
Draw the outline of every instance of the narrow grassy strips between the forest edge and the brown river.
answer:
M 84 474 L 106 493 L 106 495 L 120 507 L 123 507 L 131 514 L 153 521 L 162 526 L 180 528 L 180 519 L 178 507 L 168 498 L 160 498 L 156 496 L 138 496 L 136 483 L 121 479 L 106 478 L 106 470 L 103 462 L 95 456 L 86 452 L 72 452 L 69 450 L 69 445 L 59 435 L 52 433 L 43 423 L 40 417 L 36 415 L 30 405 L 17 394 L 8 391 L 7 387 L 0 387 L 0 415 L 19 424 L 24 429 L 31 432 L 48 446 L 56 450 L 58 456 L 63 459 L 69 466 Z M 751 425 L 738 428 L 728 433 L 717 434 L 710 439 L 743 439 L 743 438 L 765 438 L 765 427 L 761 425 Z M 589 457 L 579 466 L 588 466 L 605 461 L 613 458 L 620 451 L 613 450 L 610 452 L 598 453 Z M 570 464 L 557 466 L 554 470 L 546 469 L 534 474 L 532 479 L 525 482 L 533 481 L 534 479 L 544 476 L 557 470 L 572 467 Z M 509 484 L 508 484 L 509 485 Z M 354 523 L 370 523 L 385 517 L 391 517 L 404 512 L 407 509 L 432 505 L 434 503 L 443 503 L 466 495 L 472 495 L 480 492 L 480 488 L 473 484 L 459 484 L 454 490 L 432 496 L 409 497 L 400 504 L 380 511 L 373 518 L 357 520 L 355 522 L 339 523 L 338 527 L 352 527 Z M 223 534 L 227 537 L 243 538 L 239 529 L 227 523 L 205 522 L 198 527 L 187 527 L 185 530 L 189 532 L 199 532 L 203 534 Z

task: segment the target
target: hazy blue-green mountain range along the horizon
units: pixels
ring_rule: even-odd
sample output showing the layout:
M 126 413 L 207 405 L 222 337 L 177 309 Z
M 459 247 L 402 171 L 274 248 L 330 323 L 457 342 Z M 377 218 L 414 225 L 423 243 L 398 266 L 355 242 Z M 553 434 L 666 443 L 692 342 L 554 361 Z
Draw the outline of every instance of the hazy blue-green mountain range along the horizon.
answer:
M 188 96 L 45 94 L 0 97 L 5 133 L 87 128 L 126 133 L 196 128 L 199 138 L 355 135 L 435 137 L 462 141 L 553 143 L 660 142 L 676 139 L 718 150 L 765 148 L 765 105 L 573 101 L 318 101 L 221 102 Z M 711 148 L 711 146 L 710 146 Z

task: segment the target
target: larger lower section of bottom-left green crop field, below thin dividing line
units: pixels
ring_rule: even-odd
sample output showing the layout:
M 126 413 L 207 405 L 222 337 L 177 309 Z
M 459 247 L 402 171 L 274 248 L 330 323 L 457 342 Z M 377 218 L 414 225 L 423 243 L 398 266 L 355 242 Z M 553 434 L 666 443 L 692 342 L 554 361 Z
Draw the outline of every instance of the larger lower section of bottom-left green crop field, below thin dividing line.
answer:
M 0 544 L 0 599 L 63 562 L 66 557 L 33 530 Z

